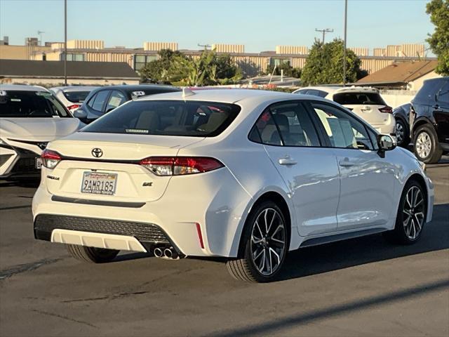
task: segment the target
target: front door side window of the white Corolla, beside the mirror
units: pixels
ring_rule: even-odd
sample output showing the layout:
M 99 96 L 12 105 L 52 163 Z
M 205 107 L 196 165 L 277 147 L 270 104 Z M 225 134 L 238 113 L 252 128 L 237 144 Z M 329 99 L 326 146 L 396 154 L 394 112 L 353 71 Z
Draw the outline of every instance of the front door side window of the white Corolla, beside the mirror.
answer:
M 366 127 L 337 107 L 311 103 L 333 147 L 374 150 Z

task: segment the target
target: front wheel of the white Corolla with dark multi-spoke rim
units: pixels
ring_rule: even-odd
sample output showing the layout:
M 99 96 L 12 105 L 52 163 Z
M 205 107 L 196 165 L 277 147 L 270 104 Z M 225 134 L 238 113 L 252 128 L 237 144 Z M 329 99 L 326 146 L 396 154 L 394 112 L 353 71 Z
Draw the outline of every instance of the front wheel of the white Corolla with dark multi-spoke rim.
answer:
M 399 201 L 394 230 L 384 237 L 396 244 L 414 244 L 421 235 L 427 217 L 427 194 L 416 180 L 409 180 Z

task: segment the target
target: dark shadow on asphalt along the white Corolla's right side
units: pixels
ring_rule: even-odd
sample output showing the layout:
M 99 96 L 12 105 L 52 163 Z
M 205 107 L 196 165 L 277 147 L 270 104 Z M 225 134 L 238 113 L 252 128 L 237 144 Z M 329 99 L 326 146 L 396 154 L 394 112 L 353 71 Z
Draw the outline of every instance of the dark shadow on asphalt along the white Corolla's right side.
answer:
M 279 280 L 321 274 L 356 265 L 449 249 L 449 204 L 434 206 L 422 237 L 410 246 L 390 244 L 382 234 L 299 249 L 289 253 Z

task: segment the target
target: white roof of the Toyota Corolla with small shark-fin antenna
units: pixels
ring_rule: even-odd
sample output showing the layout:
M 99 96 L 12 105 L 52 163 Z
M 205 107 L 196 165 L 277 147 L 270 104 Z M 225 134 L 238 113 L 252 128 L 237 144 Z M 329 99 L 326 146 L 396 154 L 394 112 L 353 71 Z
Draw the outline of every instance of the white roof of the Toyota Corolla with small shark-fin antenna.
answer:
M 183 91 L 184 92 L 184 91 Z M 185 95 L 183 92 L 177 93 L 160 93 L 157 95 L 148 95 L 138 98 L 142 100 L 205 100 L 210 102 L 222 103 L 236 103 L 247 99 L 260 100 L 260 103 L 266 100 L 276 98 L 291 98 L 292 100 L 307 99 L 310 100 L 309 95 L 298 95 L 293 93 L 282 93 L 279 91 L 266 91 L 259 89 L 241 89 L 241 88 L 226 88 L 213 90 L 192 90 L 186 89 Z

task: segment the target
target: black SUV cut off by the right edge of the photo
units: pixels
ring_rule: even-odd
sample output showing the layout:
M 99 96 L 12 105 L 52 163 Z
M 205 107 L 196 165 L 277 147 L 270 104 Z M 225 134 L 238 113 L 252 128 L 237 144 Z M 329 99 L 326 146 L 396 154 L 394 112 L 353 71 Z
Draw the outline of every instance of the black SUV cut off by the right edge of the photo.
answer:
M 449 77 L 428 79 L 412 100 L 410 138 L 415 155 L 432 164 L 449 152 Z

